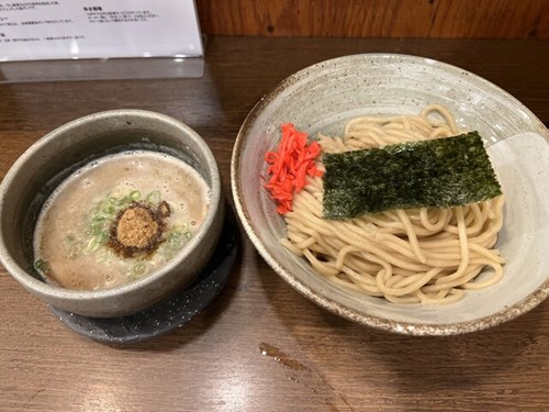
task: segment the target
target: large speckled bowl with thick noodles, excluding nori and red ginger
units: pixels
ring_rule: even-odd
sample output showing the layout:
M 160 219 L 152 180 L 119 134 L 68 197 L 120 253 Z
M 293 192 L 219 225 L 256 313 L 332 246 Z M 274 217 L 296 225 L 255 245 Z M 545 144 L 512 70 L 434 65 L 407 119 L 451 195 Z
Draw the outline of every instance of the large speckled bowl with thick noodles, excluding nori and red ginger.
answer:
M 321 172 L 307 172 L 281 207 L 267 187 L 288 125 L 315 142 Z M 328 154 L 471 131 L 502 194 L 325 218 Z M 549 293 L 548 136 L 517 99 L 461 68 L 399 54 L 339 57 L 291 75 L 250 111 L 232 158 L 235 208 L 268 265 L 320 307 L 401 334 L 480 331 Z

